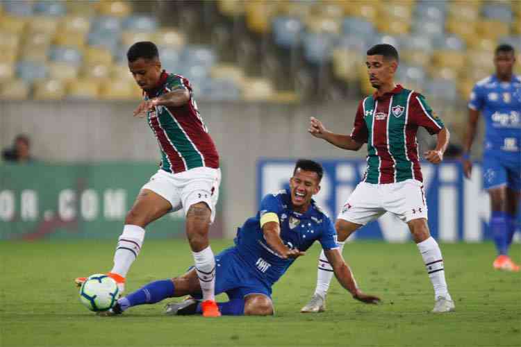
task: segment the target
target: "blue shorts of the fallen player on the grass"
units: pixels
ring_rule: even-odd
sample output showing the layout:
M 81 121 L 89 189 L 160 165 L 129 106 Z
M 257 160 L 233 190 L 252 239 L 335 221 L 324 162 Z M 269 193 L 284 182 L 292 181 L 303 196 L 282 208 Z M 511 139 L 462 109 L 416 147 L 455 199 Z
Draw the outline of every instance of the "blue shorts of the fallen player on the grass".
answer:
M 254 276 L 253 271 L 240 259 L 235 247 L 215 255 L 215 295 L 226 293 L 230 300 L 249 294 L 272 297 L 272 288 Z M 197 299 L 202 296 L 194 296 Z

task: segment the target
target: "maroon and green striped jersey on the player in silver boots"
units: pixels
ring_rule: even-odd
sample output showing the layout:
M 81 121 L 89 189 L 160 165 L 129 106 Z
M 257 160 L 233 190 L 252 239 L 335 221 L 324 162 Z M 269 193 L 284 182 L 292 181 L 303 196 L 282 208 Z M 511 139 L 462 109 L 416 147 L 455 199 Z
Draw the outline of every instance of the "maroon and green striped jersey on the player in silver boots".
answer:
M 351 133 L 367 143 L 367 183 L 396 183 L 414 178 L 422 182 L 416 132 L 423 126 L 437 134 L 444 125 L 422 94 L 397 85 L 381 96 L 367 96 L 358 104 Z

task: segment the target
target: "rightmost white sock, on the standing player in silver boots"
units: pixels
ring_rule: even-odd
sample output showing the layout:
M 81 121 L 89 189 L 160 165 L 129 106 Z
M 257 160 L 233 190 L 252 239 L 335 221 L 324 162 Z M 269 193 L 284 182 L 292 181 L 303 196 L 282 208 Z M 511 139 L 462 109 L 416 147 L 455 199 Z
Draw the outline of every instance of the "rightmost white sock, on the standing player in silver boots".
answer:
M 417 244 L 420 253 L 422 253 L 423 262 L 431 279 L 434 288 L 434 299 L 438 296 L 444 296 L 448 300 L 452 300 L 445 282 L 445 270 L 443 267 L 443 257 L 441 256 L 440 246 L 433 237 Z

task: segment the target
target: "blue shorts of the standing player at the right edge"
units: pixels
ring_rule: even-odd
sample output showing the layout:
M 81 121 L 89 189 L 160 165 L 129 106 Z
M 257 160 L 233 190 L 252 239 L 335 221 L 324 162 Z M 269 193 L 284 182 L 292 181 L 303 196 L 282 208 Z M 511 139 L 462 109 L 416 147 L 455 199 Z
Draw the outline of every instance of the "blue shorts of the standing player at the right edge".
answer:
M 483 155 L 483 188 L 506 185 L 521 191 L 521 156 L 518 153 L 486 152 Z

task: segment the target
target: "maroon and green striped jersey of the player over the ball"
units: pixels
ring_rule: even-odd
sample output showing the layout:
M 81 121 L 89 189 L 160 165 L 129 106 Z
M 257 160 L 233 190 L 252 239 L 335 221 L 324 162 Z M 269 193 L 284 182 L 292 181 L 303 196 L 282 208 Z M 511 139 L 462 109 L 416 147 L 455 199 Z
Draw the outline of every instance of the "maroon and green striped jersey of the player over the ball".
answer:
M 173 174 L 195 167 L 217 169 L 219 154 L 199 115 L 188 79 L 163 71 L 157 87 L 144 92 L 143 97 L 148 100 L 178 89 L 190 92 L 188 103 L 175 108 L 156 106 L 147 112 L 149 126 L 161 151 L 160 167 Z

